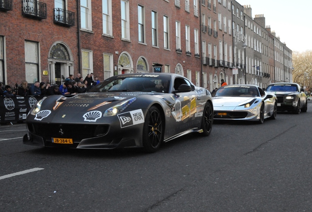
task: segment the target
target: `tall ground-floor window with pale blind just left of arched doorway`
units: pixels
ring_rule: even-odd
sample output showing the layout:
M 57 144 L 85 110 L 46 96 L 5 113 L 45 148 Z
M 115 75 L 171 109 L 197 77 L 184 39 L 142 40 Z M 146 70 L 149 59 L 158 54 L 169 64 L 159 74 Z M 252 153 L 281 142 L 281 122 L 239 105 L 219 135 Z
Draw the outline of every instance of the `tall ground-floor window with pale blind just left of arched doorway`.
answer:
M 28 83 L 39 79 L 39 43 L 25 41 L 25 74 Z

